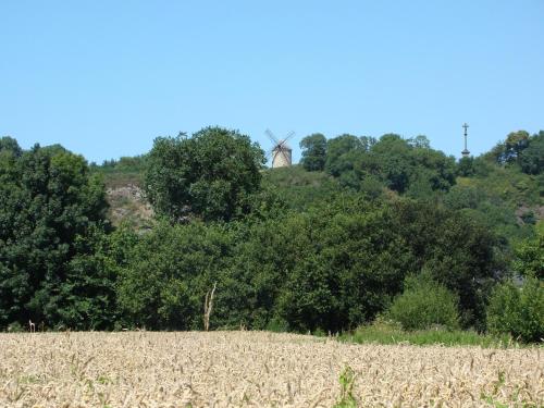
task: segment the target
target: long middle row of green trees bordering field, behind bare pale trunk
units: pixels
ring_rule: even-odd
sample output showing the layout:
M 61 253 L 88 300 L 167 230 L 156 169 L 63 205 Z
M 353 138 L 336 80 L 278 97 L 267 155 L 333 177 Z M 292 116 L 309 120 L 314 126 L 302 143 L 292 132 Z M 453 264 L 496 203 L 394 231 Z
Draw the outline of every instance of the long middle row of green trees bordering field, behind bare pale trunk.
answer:
M 426 243 L 422 252 L 420 243 L 408 239 L 431 227 L 413 217 L 424 211 L 418 206 L 370 205 L 345 195 L 264 220 L 161 223 L 128 255 L 120 302 L 135 324 L 198 329 L 202 298 L 217 283 L 214 326 L 338 331 L 371 321 L 400 292 L 407 273 L 432 265 L 435 279 L 460 297 L 465 323 L 478 323 L 479 294 L 492 273 L 492 240 L 459 219 L 459 230 Z M 436 232 L 450 228 L 454 214 L 444 211 Z M 449 251 L 460 256 L 466 265 L 443 260 Z

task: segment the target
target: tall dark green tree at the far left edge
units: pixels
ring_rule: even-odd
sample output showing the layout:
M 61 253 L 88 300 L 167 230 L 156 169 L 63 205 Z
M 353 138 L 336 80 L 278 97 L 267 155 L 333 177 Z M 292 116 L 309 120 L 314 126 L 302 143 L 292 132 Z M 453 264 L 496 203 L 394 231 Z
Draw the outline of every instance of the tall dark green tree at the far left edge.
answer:
M 103 183 L 83 157 L 38 145 L 18 157 L 0 154 L 0 325 L 63 323 L 67 276 L 89 254 L 82 242 L 108 227 L 107 209 Z M 69 293 L 88 299 L 109 290 Z

